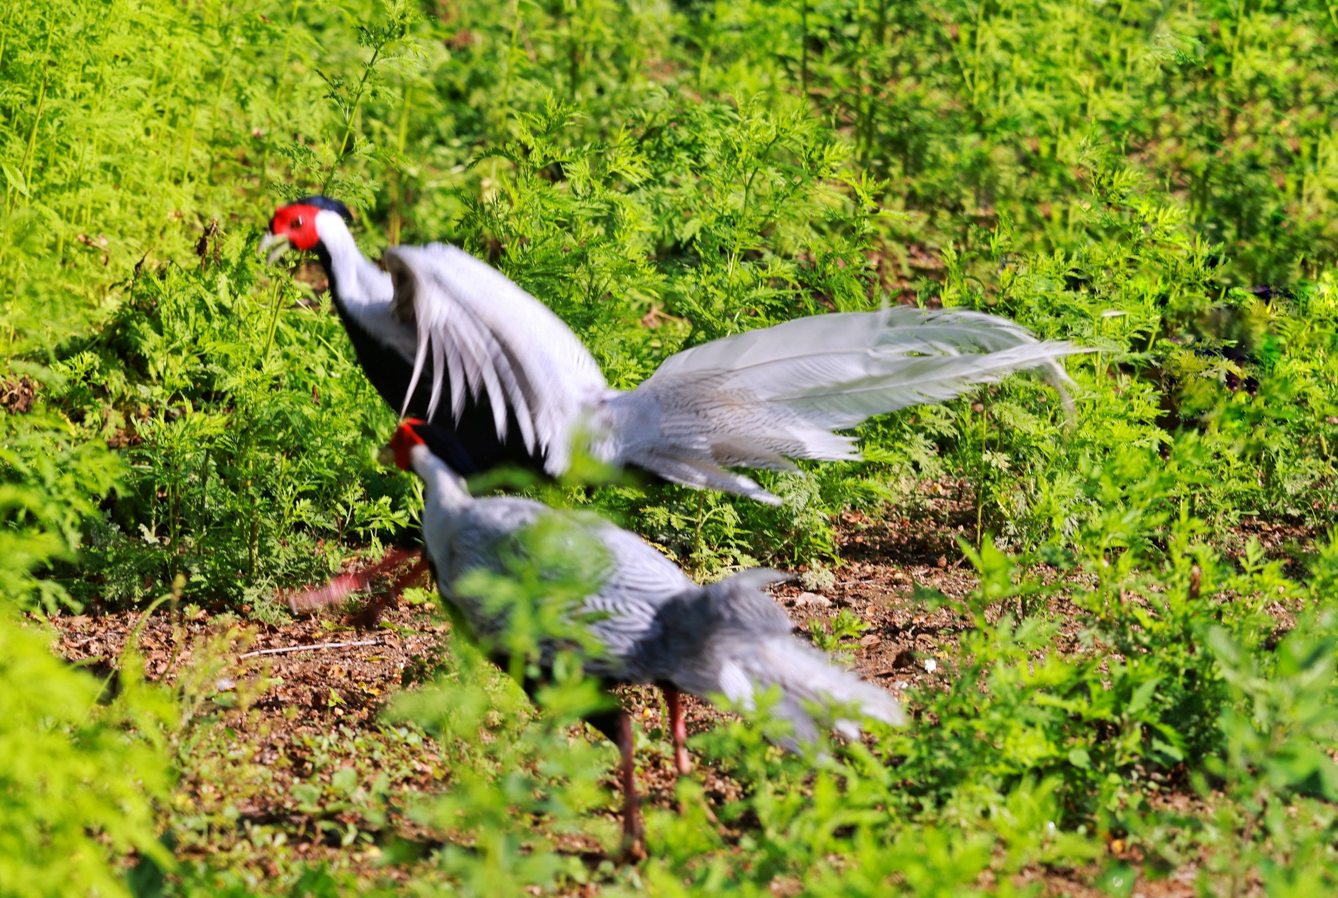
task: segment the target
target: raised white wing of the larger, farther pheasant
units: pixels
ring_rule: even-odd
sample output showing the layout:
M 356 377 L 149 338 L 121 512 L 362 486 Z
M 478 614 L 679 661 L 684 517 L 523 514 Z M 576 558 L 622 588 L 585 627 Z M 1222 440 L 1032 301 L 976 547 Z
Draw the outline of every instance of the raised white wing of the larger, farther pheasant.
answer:
M 510 408 L 526 450 L 545 450 L 549 472 L 566 470 L 582 408 L 607 392 L 599 365 L 571 329 L 504 274 L 455 246 L 395 246 L 384 261 L 395 285 L 391 310 L 417 331 L 405 403 L 431 353 L 429 419 L 447 380 L 456 422 L 466 391 L 475 399 L 486 392 L 499 439 Z

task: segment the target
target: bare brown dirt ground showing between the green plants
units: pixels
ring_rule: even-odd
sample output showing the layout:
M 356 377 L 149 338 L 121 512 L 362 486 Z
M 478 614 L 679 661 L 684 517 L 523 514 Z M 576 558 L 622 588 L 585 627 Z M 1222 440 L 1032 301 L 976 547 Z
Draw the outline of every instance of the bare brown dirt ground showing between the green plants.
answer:
M 925 613 L 911 601 L 917 585 L 941 590 L 950 597 L 969 593 L 975 578 L 959 550 L 957 538 L 974 537 L 974 517 L 966 503 L 951 499 L 951 484 L 930 490 L 921 513 L 892 515 L 880 521 L 862 514 L 843 515 L 842 553 L 846 562 L 835 570 L 836 583 L 803 596 L 797 583 L 773 589 L 796 626 L 814 616 L 828 617 L 850 609 L 870 626 L 854 649 L 855 670 L 902 695 L 910 688 L 931 688 L 951 676 L 949 665 L 937 661 L 947 654 L 963 629 L 949 610 Z M 1271 554 L 1297 557 L 1313 546 L 1311 534 L 1299 527 L 1279 527 L 1247 521 L 1227 539 L 1231 554 L 1242 551 L 1248 538 L 1256 538 Z M 1058 600 L 1057 600 L 1058 601 Z M 1062 610 L 1057 608 L 1056 610 Z M 140 622 L 138 612 L 60 616 L 52 621 L 60 634 L 59 650 L 71 662 L 94 673 L 112 676 L 126 638 Z M 178 844 L 185 859 L 210 858 L 210 866 L 238 863 L 260 874 L 278 875 L 298 862 L 325 861 L 336 869 L 365 873 L 373 879 L 407 879 L 421 874 L 413 858 L 385 865 L 375 842 L 355 840 L 345 847 L 348 827 L 376 832 L 356 800 L 347 807 L 313 808 L 292 794 L 298 782 L 329 783 L 343 768 L 353 768 L 359 783 L 377 775 L 388 778 L 392 791 L 432 792 L 444 787 L 439 755 L 428 739 L 405 735 L 403 728 L 385 727 L 377 712 L 388 696 L 413 688 L 427 677 L 443 653 L 448 625 L 427 609 L 400 604 L 381 613 L 367 628 L 364 616 L 298 618 L 281 626 L 238 621 L 233 616 L 210 617 L 203 612 L 186 617 L 162 610 L 142 622 L 139 644 L 145 675 L 151 681 L 173 684 L 190 669 L 193 660 L 217 654 L 214 689 L 205 696 L 211 725 L 197 728 L 203 735 L 182 752 L 187 775 L 178 786 L 171 812 L 185 820 L 187 838 Z M 231 633 L 229 630 L 231 628 Z M 240 632 L 237 628 L 241 628 Z M 210 646 L 214 640 L 214 648 Z M 219 641 L 222 640 L 222 641 Z M 293 646 L 361 642 L 333 648 L 252 654 Z M 219 646 L 222 646 L 219 649 Z M 197 657 L 198 656 L 198 657 Z M 935 660 L 934 670 L 926 669 Z M 268 679 L 268 684 L 258 684 Z M 115 677 L 112 676 L 112 680 Z M 261 691 L 261 685 L 266 685 Z M 250 689 L 253 693 L 248 693 Z M 206 689 L 209 692 L 209 689 Z M 241 693 L 244 709 L 229 708 L 227 696 Z M 657 691 L 633 687 L 621 691 L 628 709 L 644 729 L 657 728 L 661 703 Z M 253 703 L 248 703 L 254 699 Z M 246 707 L 249 704 L 249 707 Z M 689 735 L 719 724 L 723 715 L 710 705 L 686 697 Z M 700 764 L 700 759 L 694 759 Z M 649 803 L 673 808 L 674 774 L 668 745 L 652 745 L 640 752 L 638 783 Z M 713 802 L 737 798 L 739 786 L 712 770 L 698 770 L 706 795 Z M 219 787 L 225 783 L 225 787 Z M 610 767 L 607 786 L 617 790 Z M 1171 806 L 1198 802 L 1188 795 L 1168 794 Z M 610 795 L 606 815 L 615 819 L 617 796 Z M 397 838 L 431 847 L 431 834 L 392 812 L 384 824 Z M 191 828 L 194 827 L 194 828 Z M 256 832 L 268 832 L 272 851 L 257 852 Z M 261 839 L 264 840 L 264 839 Z M 1112 843 L 1112 855 L 1137 861 L 1137 852 Z M 598 859 L 597 844 L 575 842 L 570 850 Z M 1097 895 L 1090 885 L 1093 870 L 1029 870 L 1022 882 L 1041 882 L 1045 895 Z M 1133 894 L 1145 898 L 1188 898 L 1195 894 L 1196 869 L 1191 865 L 1157 881 L 1140 879 Z M 775 885 L 775 883 L 773 883 Z M 784 890 L 784 889 L 783 889 Z

